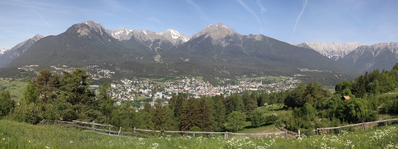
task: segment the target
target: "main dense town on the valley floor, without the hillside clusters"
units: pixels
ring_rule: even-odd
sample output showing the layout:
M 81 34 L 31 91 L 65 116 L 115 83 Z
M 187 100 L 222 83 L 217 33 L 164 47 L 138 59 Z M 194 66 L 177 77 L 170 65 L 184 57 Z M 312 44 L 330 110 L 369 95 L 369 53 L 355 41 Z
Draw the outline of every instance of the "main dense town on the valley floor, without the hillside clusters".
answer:
M 286 77 L 276 83 L 264 84 L 261 77 L 258 78 L 238 78 L 239 84 L 226 86 L 213 86 L 196 77 L 178 77 L 176 81 L 166 81 L 164 83 L 155 83 L 152 81 L 135 81 L 124 79 L 119 83 L 111 83 L 115 88 L 115 97 L 118 98 L 117 104 L 125 101 L 141 101 L 142 99 L 152 99 L 151 106 L 161 101 L 162 104 L 168 104 L 172 95 L 186 93 L 195 98 L 201 96 L 221 95 L 229 96 L 232 93 L 244 91 L 265 91 L 267 93 L 279 92 L 282 90 L 293 89 L 301 81 L 293 77 Z M 221 79 L 223 81 L 224 79 Z M 265 79 L 264 79 L 265 80 Z M 140 108 L 140 107 L 137 107 Z

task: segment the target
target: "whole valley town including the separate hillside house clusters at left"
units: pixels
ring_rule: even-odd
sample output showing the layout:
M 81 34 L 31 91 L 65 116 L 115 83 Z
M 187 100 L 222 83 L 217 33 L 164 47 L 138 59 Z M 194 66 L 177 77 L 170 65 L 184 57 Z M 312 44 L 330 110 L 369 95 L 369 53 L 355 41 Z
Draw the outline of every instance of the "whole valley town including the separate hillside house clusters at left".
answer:
M 34 71 L 39 65 L 27 65 L 23 66 L 21 70 Z M 54 68 L 53 72 L 61 73 L 62 70 L 72 72 L 75 68 L 70 66 L 51 66 Z M 84 66 L 90 74 L 90 79 L 99 80 L 101 78 L 111 78 L 115 72 L 102 69 L 99 66 Z M 201 96 L 215 96 L 221 95 L 229 96 L 232 93 L 241 93 L 244 91 L 264 91 L 267 93 L 279 92 L 283 90 L 293 89 L 297 87 L 301 81 L 296 78 L 299 76 L 304 76 L 301 74 L 295 74 L 294 77 L 279 77 L 279 79 L 271 79 L 268 77 L 237 77 L 236 84 L 228 85 L 218 85 L 213 86 L 209 82 L 205 82 L 201 77 L 176 77 L 175 81 L 165 81 L 158 82 L 151 79 L 122 79 L 117 81 L 118 83 L 111 83 L 111 87 L 114 90 L 114 97 L 117 97 L 117 104 L 121 104 L 126 101 L 139 102 L 141 104 L 144 101 L 150 101 L 151 106 L 161 102 L 162 104 L 168 104 L 168 100 L 172 98 L 173 95 L 178 93 L 186 93 L 189 96 L 195 98 L 200 98 Z M 230 79 L 217 78 L 219 84 L 225 84 L 225 82 L 230 81 Z M 236 81 L 234 81 L 236 82 Z M 267 82 L 267 83 L 265 83 Z M 91 85 L 90 87 L 96 88 L 98 85 Z M 141 107 L 136 107 L 136 110 Z

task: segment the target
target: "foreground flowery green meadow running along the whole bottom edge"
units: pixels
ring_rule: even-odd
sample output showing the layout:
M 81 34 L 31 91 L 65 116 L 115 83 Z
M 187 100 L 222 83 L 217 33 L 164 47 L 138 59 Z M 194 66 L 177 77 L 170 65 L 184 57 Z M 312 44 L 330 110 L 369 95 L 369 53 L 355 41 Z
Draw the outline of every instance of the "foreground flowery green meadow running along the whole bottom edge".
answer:
M 0 120 L 0 148 L 4 149 L 377 149 L 398 148 L 398 126 L 344 132 L 341 135 L 318 135 L 302 139 L 261 137 L 158 136 L 149 138 L 113 137 L 94 131 L 60 126 L 31 125 Z M 30 141 L 30 142 L 29 142 Z

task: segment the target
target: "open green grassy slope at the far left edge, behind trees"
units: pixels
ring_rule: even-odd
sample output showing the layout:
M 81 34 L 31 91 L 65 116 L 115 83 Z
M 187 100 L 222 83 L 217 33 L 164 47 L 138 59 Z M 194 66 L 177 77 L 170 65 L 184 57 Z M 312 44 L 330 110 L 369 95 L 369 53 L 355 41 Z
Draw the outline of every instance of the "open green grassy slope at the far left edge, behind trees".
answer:
M 10 79 L 10 78 L 0 78 L 0 89 L 7 90 L 10 92 L 12 96 L 11 99 L 14 99 L 16 103 L 20 102 L 23 90 L 26 87 L 26 83 L 20 81 L 21 79 Z

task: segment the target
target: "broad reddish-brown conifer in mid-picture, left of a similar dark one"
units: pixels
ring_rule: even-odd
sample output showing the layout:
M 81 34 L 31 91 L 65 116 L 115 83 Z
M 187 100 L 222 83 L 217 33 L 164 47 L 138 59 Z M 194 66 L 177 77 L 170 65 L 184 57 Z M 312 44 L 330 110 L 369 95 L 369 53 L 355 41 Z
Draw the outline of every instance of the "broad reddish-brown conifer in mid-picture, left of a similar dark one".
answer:
M 201 126 L 200 114 L 196 99 L 190 97 L 185 101 L 181 112 L 181 130 L 188 131 L 192 127 Z

